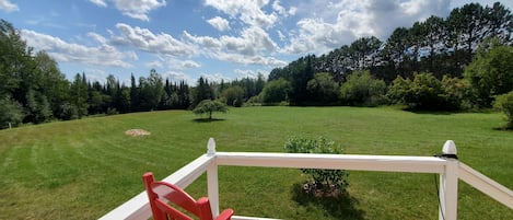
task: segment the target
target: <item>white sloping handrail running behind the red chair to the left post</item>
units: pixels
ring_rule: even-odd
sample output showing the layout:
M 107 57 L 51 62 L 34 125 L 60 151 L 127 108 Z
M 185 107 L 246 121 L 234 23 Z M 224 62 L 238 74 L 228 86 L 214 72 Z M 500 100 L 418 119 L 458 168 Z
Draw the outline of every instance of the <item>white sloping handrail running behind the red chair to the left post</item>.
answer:
M 182 188 L 186 188 L 202 173 L 206 172 L 207 166 L 213 162 L 213 157 L 206 154 L 194 160 L 189 164 L 185 165 L 180 170 L 176 171 L 172 175 L 165 177 L 163 181 L 175 184 Z M 142 176 L 142 174 L 141 174 Z M 141 181 L 142 186 L 142 181 Z M 121 206 L 115 208 L 110 212 L 106 213 L 101 220 L 141 220 L 151 217 L 151 209 L 148 201 L 148 195 L 145 192 L 140 193 L 136 197 L 126 201 Z

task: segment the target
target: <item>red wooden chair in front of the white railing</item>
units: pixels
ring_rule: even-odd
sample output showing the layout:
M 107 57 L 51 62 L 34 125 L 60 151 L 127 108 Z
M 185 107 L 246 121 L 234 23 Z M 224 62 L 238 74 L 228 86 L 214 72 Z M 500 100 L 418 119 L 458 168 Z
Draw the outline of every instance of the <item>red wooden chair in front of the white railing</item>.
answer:
M 213 218 L 210 201 L 207 197 L 195 200 L 182 188 L 173 184 L 155 182 L 153 173 L 151 172 L 144 173 L 142 180 L 144 181 L 144 187 L 150 199 L 154 220 L 194 220 L 178 209 L 170 206 L 166 200 L 193 213 L 200 220 L 230 220 L 233 216 L 232 209 L 225 209 L 221 215 Z

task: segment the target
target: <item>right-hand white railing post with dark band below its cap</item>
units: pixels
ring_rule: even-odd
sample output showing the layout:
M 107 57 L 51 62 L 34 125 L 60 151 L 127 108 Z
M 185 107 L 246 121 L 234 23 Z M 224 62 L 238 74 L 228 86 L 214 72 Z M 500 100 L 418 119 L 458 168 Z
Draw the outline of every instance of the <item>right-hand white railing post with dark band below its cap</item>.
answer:
M 458 160 L 454 141 L 445 141 L 442 152 L 442 157 L 447 160 L 447 165 L 445 165 L 444 173 L 440 175 L 439 220 L 456 220 L 458 209 Z

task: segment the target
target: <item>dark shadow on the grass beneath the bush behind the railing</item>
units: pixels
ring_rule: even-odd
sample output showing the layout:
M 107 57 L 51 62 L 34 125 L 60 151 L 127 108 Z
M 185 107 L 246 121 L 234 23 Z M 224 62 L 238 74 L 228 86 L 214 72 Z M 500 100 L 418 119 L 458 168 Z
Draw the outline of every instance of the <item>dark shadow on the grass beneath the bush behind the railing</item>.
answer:
M 303 185 L 298 183 L 292 186 L 292 197 L 301 206 L 319 207 L 336 219 L 364 219 L 365 212 L 354 207 L 359 204 L 358 199 L 347 192 L 338 195 L 318 196 L 305 192 Z

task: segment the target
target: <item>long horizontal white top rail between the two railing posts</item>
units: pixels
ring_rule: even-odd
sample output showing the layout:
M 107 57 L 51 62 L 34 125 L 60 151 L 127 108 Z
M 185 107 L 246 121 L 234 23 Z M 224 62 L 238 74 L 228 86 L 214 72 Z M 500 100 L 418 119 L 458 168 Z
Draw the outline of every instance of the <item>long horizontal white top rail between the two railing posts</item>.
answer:
M 447 163 L 446 160 L 434 157 L 406 155 L 217 152 L 215 158 L 218 165 L 412 173 L 443 173 Z

